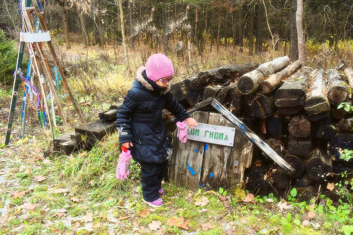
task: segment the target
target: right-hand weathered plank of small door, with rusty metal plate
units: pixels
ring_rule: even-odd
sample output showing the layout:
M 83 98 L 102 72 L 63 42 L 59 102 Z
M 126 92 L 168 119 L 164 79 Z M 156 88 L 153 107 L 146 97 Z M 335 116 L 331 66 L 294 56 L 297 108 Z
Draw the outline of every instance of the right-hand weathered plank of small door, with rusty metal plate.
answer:
M 217 113 L 209 114 L 208 123 L 234 128 L 232 123 Z M 236 129 L 233 147 L 205 144 L 201 186 L 216 189 L 242 184 L 245 168 L 251 165 L 252 152 L 253 144 L 239 129 Z

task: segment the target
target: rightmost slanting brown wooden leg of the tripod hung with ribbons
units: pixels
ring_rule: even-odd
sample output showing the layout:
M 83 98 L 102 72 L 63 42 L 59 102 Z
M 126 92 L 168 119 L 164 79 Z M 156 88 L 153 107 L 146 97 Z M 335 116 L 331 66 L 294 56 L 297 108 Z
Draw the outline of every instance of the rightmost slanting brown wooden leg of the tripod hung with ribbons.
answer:
M 36 1 L 36 0 L 32 0 L 32 3 L 33 3 L 33 6 L 34 6 L 34 8 L 35 8 L 35 11 L 36 11 L 38 20 L 39 20 L 39 22 L 40 22 L 40 24 L 41 24 L 42 32 L 47 32 L 47 31 L 48 31 L 48 29 L 47 29 L 47 23 L 46 23 L 46 22 L 44 21 L 44 19 L 43 19 L 43 16 L 42 16 L 42 13 L 41 13 L 41 11 L 40 11 L 40 9 L 39 9 L 39 6 L 38 6 L 37 1 Z M 63 83 L 64 83 L 64 86 L 65 86 L 65 88 L 66 88 L 66 90 L 67 90 L 68 97 L 70 98 L 70 101 L 72 102 L 72 105 L 73 105 L 73 107 L 74 107 L 74 109 L 75 109 L 75 111 L 76 111 L 76 113 L 77 113 L 78 119 L 80 120 L 80 122 L 81 122 L 82 124 L 84 124 L 84 123 L 85 123 L 85 120 L 84 120 L 84 118 L 83 118 L 83 115 L 82 115 L 82 113 L 81 113 L 81 110 L 80 110 L 79 106 L 78 106 L 77 103 L 76 103 L 75 98 L 74 98 L 73 95 L 72 95 L 71 89 L 70 89 L 70 87 L 68 86 L 68 83 L 67 83 L 67 80 L 66 80 L 64 71 L 62 70 L 61 64 L 60 64 L 60 62 L 59 62 L 58 56 L 56 55 L 56 52 L 55 52 L 55 49 L 54 49 L 54 47 L 53 47 L 52 41 L 47 41 L 47 43 L 48 43 L 48 47 L 49 47 L 50 53 L 51 53 L 52 56 L 53 56 L 53 60 L 54 60 L 55 66 L 56 66 L 56 68 L 58 68 L 59 74 L 60 74 L 60 76 L 61 76 L 61 78 L 62 78 L 62 81 L 63 81 Z

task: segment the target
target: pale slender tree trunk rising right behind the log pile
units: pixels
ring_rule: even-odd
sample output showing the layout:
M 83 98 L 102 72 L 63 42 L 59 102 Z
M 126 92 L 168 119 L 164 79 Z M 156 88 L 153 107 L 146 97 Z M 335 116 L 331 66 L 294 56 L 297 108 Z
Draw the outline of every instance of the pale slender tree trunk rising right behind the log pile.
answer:
M 303 29 L 303 0 L 297 0 L 297 14 L 296 14 L 296 23 L 298 31 L 298 53 L 299 59 L 302 62 L 305 62 L 306 53 L 305 53 L 305 35 Z

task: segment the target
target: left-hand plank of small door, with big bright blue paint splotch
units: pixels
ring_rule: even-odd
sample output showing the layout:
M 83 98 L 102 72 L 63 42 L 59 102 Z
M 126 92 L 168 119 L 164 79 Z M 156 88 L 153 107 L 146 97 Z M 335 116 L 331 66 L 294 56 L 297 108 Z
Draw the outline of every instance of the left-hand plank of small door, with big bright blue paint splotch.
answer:
M 200 123 L 208 122 L 207 112 L 196 112 L 195 120 Z M 169 159 L 169 179 L 180 186 L 190 189 L 200 187 L 201 169 L 204 155 L 204 143 L 187 141 L 181 143 L 177 138 L 177 129 L 173 134 L 173 153 Z M 186 156 L 180 157 L 180 156 Z

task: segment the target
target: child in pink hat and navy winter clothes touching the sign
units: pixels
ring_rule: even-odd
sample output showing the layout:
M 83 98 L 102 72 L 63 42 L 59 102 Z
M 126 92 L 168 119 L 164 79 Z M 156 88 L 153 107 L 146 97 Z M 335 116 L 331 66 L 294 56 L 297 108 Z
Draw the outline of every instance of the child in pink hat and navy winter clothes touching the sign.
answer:
M 172 153 L 172 144 L 162 122 L 162 110 L 166 108 L 174 114 L 178 126 L 184 121 L 190 128 L 197 126 L 195 119 L 190 118 L 169 92 L 173 74 L 174 68 L 167 56 L 151 55 L 146 67 L 137 70 L 136 80 L 116 115 L 119 143 L 127 149 L 131 147 L 133 159 L 141 165 L 143 201 L 153 207 L 163 204 L 161 182 L 167 173 L 167 158 Z

